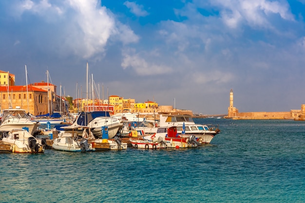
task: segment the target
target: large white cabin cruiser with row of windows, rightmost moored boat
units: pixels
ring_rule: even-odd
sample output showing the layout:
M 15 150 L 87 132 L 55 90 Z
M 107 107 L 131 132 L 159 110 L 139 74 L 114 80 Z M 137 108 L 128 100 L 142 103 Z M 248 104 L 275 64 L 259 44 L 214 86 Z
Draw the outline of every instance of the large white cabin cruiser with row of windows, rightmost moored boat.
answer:
M 210 144 L 214 136 L 220 132 L 218 128 L 209 128 L 208 125 L 195 124 L 190 115 L 161 114 L 159 125 L 160 127 L 175 126 L 177 133 L 182 134 L 183 137 L 195 135 L 196 138 L 199 138 L 200 144 Z

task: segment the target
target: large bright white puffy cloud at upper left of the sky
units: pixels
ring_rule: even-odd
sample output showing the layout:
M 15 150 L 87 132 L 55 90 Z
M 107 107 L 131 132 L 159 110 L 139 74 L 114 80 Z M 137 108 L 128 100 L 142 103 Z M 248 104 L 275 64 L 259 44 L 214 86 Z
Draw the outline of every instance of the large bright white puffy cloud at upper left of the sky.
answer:
M 114 14 L 101 6 L 98 0 L 25 0 L 17 7 L 20 16 L 28 12 L 58 26 L 48 40 L 57 42 L 52 46 L 58 47 L 60 54 L 100 58 L 111 38 L 124 45 L 139 40 L 129 26 L 117 21 Z

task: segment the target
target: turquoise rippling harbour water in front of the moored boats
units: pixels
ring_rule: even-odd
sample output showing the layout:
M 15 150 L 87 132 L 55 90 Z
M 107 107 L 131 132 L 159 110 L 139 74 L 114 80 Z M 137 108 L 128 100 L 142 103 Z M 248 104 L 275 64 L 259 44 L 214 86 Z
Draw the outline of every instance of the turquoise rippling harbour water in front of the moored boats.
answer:
M 0 202 L 305 202 L 305 122 L 195 121 L 222 131 L 199 148 L 0 154 Z

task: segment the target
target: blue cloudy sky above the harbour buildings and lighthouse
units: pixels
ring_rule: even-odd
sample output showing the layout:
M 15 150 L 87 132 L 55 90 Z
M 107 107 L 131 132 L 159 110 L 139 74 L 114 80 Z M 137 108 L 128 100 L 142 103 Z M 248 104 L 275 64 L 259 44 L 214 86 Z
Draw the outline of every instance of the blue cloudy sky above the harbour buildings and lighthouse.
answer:
M 240 112 L 299 110 L 304 18 L 305 0 L 2 0 L 0 70 L 73 98 L 88 75 L 101 99 L 227 114 L 232 89 Z

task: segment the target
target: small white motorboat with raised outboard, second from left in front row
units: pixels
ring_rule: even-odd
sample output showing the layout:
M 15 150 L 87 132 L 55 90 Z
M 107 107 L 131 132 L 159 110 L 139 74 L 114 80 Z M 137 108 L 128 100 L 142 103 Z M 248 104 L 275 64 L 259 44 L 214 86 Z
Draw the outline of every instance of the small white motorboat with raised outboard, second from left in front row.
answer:
M 63 127 L 65 128 L 65 127 Z M 54 139 L 52 147 L 61 151 L 72 151 L 72 152 L 85 152 L 85 151 L 95 151 L 92 144 L 88 142 L 87 129 L 85 128 L 82 137 L 78 134 L 78 127 L 67 126 L 65 131 L 58 134 L 58 138 Z

